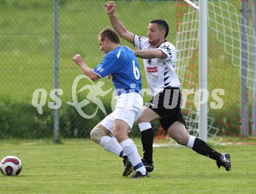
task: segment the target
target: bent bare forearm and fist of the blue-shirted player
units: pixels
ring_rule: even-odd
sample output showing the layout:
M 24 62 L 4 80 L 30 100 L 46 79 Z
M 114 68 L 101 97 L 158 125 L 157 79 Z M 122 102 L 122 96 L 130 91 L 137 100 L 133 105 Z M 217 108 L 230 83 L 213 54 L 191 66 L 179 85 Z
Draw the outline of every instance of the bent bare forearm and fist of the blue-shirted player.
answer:
M 80 54 L 76 54 L 73 56 L 72 60 L 79 65 L 81 71 L 83 71 L 84 75 L 87 75 L 93 82 L 99 79 L 99 76 L 93 72 L 93 69 L 87 67 L 86 63 L 84 63 L 83 57 Z

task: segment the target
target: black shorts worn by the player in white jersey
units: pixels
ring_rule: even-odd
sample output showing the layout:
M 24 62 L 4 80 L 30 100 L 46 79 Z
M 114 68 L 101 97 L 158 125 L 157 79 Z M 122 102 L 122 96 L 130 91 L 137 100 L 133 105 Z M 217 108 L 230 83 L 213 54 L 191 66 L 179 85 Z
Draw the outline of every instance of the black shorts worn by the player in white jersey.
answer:
M 186 127 L 181 107 L 182 93 L 179 87 L 166 87 L 161 93 L 151 98 L 148 106 L 161 116 L 159 122 L 166 131 L 176 121 L 183 123 Z

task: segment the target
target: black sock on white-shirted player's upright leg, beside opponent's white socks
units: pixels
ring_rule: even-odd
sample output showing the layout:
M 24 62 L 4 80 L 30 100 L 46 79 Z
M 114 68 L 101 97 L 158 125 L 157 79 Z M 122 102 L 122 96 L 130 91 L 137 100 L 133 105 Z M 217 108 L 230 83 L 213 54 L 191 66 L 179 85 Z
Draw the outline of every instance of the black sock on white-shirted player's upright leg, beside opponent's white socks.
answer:
M 154 134 L 153 129 L 147 129 L 144 131 L 141 131 L 141 142 L 143 145 L 143 158 L 148 163 L 153 163 L 152 155 L 153 155 L 153 140 L 154 140 Z

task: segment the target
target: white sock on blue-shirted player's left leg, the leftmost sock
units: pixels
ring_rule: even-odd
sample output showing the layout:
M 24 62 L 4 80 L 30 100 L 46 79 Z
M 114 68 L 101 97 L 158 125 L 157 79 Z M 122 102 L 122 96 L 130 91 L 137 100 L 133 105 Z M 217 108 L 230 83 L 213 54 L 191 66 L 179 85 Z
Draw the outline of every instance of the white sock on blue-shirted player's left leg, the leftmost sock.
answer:
M 110 136 L 103 136 L 101 141 L 99 141 L 101 147 L 104 148 L 106 151 L 114 153 L 120 157 L 123 157 L 123 149 L 120 146 L 119 142 L 116 138 L 112 138 Z

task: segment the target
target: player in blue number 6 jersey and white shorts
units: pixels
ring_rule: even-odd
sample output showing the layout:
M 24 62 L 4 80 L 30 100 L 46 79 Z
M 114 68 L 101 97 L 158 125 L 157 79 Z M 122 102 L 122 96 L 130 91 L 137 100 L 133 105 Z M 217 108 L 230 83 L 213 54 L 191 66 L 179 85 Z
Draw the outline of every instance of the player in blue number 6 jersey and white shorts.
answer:
M 100 49 L 106 55 L 97 67 L 87 67 L 80 54 L 73 57 L 73 61 L 79 65 L 84 75 L 93 81 L 111 75 L 116 90 L 115 111 L 91 130 L 91 138 L 106 151 L 123 157 L 124 164 L 131 163 L 136 170 L 133 178 L 148 177 L 136 145 L 127 135 L 143 107 L 138 61 L 132 50 L 120 46 L 119 36 L 115 30 L 105 28 L 99 33 L 98 38 Z M 127 176 L 130 173 L 126 168 L 123 175 Z

